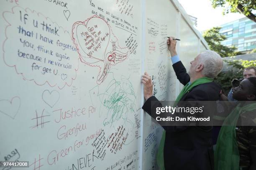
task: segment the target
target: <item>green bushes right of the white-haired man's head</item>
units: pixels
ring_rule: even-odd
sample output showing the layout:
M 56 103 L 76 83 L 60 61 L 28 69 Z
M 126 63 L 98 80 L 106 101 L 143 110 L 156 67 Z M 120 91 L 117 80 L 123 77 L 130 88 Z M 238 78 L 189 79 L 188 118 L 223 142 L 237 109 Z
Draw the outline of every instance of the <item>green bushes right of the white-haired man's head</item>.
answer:
M 234 78 L 242 78 L 243 70 L 247 67 L 256 67 L 256 60 L 224 60 L 227 65 L 232 68 L 228 71 L 222 71 L 215 78 L 215 82 L 219 83 L 224 90 L 225 95 L 228 95 L 229 90 L 231 89 L 231 81 Z

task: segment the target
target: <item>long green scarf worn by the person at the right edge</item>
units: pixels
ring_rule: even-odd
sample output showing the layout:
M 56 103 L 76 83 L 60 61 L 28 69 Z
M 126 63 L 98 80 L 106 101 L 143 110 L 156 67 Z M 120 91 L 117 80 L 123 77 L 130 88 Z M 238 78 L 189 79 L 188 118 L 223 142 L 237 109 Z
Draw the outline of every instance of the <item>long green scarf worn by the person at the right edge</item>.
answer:
M 217 140 L 214 153 L 215 170 L 239 170 L 239 151 L 236 140 L 236 124 L 241 112 L 256 109 L 256 103 L 240 107 L 240 104 L 228 115 Z

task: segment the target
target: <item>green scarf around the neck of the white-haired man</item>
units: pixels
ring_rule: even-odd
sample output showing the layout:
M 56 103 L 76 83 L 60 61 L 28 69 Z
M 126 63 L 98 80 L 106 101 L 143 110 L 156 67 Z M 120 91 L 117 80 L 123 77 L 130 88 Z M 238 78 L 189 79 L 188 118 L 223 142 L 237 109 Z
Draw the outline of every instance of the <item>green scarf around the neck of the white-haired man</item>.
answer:
M 175 100 L 174 105 L 177 105 L 177 103 L 184 96 L 184 94 L 189 92 L 195 86 L 203 84 L 203 83 L 207 83 L 207 82 L 212 82 L 212 81 L 213 81 L 213 79 L 211 79 L 211 78 L 201 77 L 190 84 L 188 82 L 187 85 L 185 85 L 183 87 L 182 91 L 179 93 L 177 99 Z M 163 135 L 162 135 L 162 138 L 161 138 L 161 141 L 159 144 L 159 149 L 158 149 L 157 158 L 156 158 L 157 165 L 159 166 L 160 170 L 164 170 L 164 141 L 165 141 L 165 130 L 163 131 Z

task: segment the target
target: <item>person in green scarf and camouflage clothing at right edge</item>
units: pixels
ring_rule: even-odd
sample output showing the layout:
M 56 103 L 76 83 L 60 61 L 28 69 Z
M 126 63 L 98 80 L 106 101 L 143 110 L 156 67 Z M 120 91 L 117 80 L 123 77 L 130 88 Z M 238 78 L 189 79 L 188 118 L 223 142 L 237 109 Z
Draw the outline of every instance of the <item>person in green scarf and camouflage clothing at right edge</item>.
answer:
M 215 170 L 256 170 L 256 77 L 242 80 L 232 95 L 238 105 L 220 129 Z

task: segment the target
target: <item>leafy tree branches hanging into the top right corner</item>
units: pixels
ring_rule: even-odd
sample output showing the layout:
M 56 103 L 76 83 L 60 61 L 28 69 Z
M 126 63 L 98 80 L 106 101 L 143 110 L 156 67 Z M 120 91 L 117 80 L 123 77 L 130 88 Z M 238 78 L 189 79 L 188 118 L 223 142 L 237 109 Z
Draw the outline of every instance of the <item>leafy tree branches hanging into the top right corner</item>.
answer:
M 238 6 L 240 5 L 243 10 L 243 14 L 248 16 L 253 10 L 256 10 L 255 0 L 211 0 L 212 7 L 225 7 L 223 14 L 225 13 L 239 13 Z

